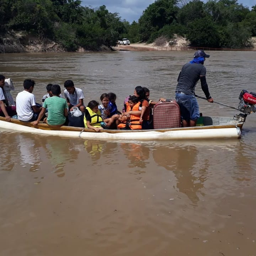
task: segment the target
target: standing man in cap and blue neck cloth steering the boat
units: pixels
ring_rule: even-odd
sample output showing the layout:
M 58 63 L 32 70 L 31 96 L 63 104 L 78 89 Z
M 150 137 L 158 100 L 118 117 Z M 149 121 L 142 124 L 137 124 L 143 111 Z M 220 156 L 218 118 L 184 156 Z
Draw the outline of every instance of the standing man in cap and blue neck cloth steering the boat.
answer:
M 183 127 L 196 126 L 197 119 L 200 116 L 197 99 L 194 96 L 194 90 L 199 79 L 208 102 L 213 102 L 206 82 L 206 68 L 203 65 L 205 58 L 209 57 L 210 55 L 203 50 L 196 51 L 194 59 L 182 67 L 178 76 L 175 98 L 180 106 Z

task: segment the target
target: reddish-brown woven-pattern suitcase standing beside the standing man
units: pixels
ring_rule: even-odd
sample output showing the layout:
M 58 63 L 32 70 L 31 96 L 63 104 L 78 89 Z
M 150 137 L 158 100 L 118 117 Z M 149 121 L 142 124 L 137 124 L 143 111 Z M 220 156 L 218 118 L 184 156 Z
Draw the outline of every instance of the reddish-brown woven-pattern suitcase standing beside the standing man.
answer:
M 153 112 L 154 129 L 181 127 L 180 107 L 176 100 L 158 102 Z

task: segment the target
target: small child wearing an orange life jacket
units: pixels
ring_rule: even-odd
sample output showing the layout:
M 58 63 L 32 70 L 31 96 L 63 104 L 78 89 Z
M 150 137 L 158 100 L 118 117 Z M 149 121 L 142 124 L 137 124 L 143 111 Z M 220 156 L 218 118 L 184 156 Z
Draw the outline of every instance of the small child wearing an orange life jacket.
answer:
M 134 95 L 130 96 L 126 105 L 126 112 L 117 120 L 117 129 L 142 129 L 142 125 L 139 122 L 141 114 L 141 110 L 139 110 L 139 98 Z M 128 119 L 127 121 L 125 121 L 126 117 Z

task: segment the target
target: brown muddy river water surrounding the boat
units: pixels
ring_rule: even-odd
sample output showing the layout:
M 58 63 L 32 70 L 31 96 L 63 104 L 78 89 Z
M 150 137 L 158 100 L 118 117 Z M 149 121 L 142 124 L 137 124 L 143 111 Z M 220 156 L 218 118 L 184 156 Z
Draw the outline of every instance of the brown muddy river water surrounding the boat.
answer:
M 207 52 L 208 53 L 208 52 Z M 237 107 L 256 91 L 256 52 L 209 52 L 215 101 Z M 0 74 L 16 96 L 24 79 L 74 81 L 85 103 L 104 92 L 117 106 L 137 85 L 150 98 L 174 98 L 193 52 L 1 55 Z M 203 95 L 197 85 L 197 95 Z M 236 111 L 199 99 L 209 116 Z M 0 255 L 256 255 L 256 114 L 242 138 L 105 142 L 0 130 Z

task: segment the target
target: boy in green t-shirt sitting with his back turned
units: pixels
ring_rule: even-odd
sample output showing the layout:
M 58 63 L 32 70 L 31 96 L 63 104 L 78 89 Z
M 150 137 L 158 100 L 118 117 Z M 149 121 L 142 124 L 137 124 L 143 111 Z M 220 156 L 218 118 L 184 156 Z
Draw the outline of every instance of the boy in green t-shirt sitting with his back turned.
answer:
M 52 97 L 45 99 L 43 103 L 42 110 L 36 121 L 33 122 L 36 126 L 44 113 L 46 108 L 48 109 L 48 117 L 44 118 L 44 123 L 49 126 L 62 126 L 66 122 L 66 117 L 68 116 L 68 103 L 64 98 L 60 98 L 60 86 L 58 84 L 53 84 L 51 86 Z

